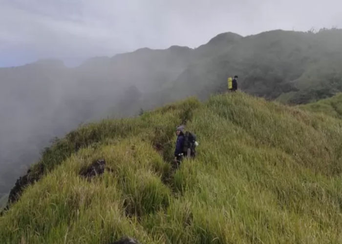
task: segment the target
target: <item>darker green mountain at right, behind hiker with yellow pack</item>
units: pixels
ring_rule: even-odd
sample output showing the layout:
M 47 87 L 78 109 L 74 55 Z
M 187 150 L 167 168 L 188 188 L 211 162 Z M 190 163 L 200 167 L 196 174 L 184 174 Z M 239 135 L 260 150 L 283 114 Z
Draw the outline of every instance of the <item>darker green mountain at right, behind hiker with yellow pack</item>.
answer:
M 142 96 L 135 107 L 130 105 L 130 113 L 188 96 L 207 99 L 226 91 L 227 78 L 235 75 L 239 76 L 239 89 L 290 104 L 312 102 L 342 91 L 340 29 L 318 33 L 275 30 L 248 37 L 223 33 L 194 49 L 192 57 L 196 58 L 176 80 Z M 113 117 L 120 109 L 113 108 Z

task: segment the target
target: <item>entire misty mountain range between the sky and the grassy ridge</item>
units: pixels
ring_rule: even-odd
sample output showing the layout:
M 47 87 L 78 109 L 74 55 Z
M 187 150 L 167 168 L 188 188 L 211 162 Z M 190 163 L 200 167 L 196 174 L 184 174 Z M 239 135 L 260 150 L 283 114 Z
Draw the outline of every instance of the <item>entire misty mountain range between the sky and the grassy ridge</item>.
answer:
M 195 96 L 239 76 L 244 92 L 302 104 L 342 91 L 342 30 L 221 33 L 189 48 L 140 48 L 75 68 L 43 60 L 0 68 L 0 198 L 54 137 L 80 123 L 125 118 Z M 13 111 L 16 111 L 14 113 Z

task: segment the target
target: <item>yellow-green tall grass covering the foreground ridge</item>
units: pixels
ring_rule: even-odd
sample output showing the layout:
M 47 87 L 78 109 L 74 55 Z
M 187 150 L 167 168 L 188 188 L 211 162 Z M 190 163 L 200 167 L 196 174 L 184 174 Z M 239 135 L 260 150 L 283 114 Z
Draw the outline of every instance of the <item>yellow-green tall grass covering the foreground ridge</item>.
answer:
M 173 174 L 183 120 L 198 157 Z M 43 179 L 0 217 L 0 243 L 341 243 L 341 125 L 240 92 L 86 125 L 45 152 Z M 112 170 L 78 176 L 97 159 Z

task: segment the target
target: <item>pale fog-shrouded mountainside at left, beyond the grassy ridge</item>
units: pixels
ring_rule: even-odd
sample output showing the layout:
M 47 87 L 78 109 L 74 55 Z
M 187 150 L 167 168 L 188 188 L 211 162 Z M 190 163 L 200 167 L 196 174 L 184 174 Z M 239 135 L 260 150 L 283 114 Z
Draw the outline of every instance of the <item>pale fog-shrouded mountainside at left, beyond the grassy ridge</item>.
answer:
M 191 52 L 144 48 L 75 68 L 56 60 L 0 68 L 0 198 L 54 137 L 99 119 L 114 104 L 136 105 L 142 93 L 176 79 Z

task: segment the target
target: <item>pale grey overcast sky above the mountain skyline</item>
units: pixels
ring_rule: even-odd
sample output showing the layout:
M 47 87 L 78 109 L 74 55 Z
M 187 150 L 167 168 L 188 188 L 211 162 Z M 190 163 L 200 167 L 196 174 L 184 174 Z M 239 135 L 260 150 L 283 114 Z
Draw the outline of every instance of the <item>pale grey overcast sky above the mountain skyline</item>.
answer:
M 341 0 L 0 0 L 0 66 L 196 47 L 228 31 L 342 28 L 341 9 Z

